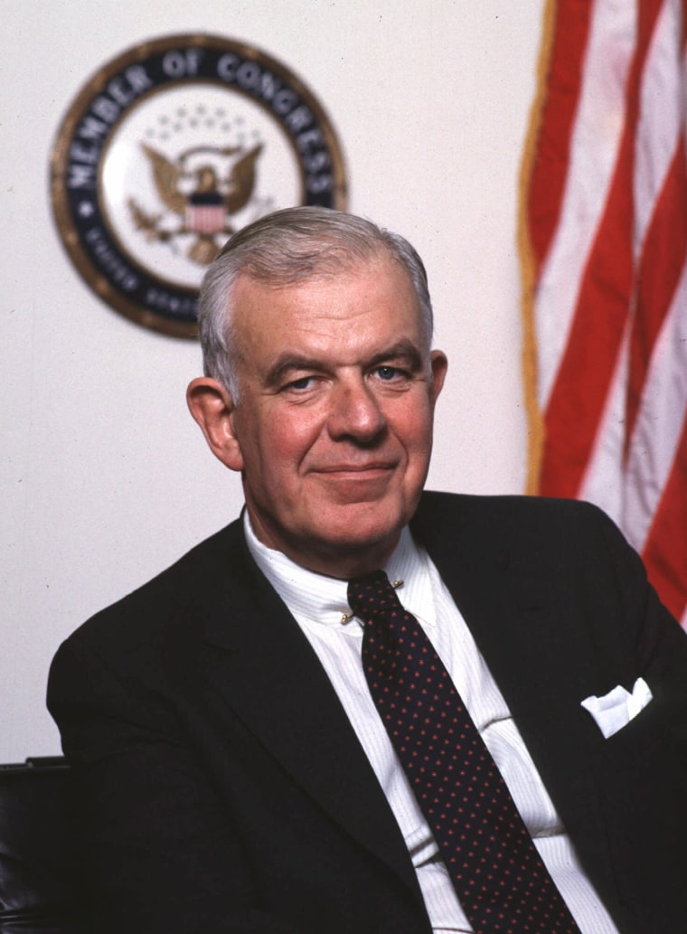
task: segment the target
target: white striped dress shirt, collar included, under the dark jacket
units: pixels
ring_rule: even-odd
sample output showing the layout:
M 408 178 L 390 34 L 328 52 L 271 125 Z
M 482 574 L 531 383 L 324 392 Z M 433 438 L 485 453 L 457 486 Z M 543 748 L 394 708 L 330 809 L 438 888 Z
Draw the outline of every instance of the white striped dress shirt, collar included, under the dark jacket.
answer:
M 351 616 L 347 583 L 301 568 L 262 545 L 245 513 L 248 547 L 329 675 L 370 760 L 413 860 L 435 934 L 471 932 L 439 847 L 428 828 L 362 670 L 362 626 Z M 582 934 L 618 934 L 585 876 L 554 804 L 515 726 L 465 620 L 428 554 L 405 529 L 386 565 L 389 580 L 403 581 L 399 597 L 416 616 L 454 680 L 484 743 L 494 757 L 540 856 Z

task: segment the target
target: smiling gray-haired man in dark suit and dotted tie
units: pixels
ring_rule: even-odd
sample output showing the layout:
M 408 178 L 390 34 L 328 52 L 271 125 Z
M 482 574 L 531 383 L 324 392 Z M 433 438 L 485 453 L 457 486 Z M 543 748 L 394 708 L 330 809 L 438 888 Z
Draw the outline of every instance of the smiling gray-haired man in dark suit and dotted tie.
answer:
M 278 212 L 208 271 L 201 336 L 189 408 L 244 515 L 51 671 L 96 929 L 683 929 L 687 640 L 593 507 L 422 492 L 446 358 L 414 249 Z

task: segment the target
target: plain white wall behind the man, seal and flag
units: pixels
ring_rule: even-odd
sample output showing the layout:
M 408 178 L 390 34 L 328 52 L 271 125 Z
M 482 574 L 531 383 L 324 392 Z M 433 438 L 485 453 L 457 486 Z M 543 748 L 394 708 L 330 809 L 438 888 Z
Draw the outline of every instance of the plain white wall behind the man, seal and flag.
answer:
M 344 145 L 351 210 L 423 254 L 451 369 L 430 486 L 519 492 L 517 173 L 542 0 L 0 0 L 0 761 L 59 751 L 51 658 L 91 613 L 234 517 L 184 391 L 198 347 L 93 297 L 53 227 L 49 152 L 100 65 L 216 32 L 287 64 Z

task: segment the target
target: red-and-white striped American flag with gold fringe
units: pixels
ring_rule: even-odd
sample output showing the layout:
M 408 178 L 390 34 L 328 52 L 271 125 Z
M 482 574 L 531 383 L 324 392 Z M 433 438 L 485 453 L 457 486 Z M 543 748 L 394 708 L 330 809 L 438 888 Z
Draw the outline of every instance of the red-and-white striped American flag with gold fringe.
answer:
M 687 0 L 550 0 L 523 165 L 529 491 L 601 506 L 687 628 Z

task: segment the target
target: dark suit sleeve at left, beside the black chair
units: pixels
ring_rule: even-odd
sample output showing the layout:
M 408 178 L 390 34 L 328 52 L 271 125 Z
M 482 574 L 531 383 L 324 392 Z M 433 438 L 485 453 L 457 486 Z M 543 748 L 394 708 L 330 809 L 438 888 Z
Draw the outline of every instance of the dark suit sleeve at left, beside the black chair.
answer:
M 77 782 L 93 929 L 295 934 L 261 911 L 231 816 L 175 712 L 82 643 L 58 652 L 48 700 Z

